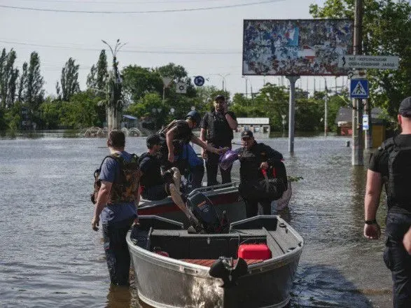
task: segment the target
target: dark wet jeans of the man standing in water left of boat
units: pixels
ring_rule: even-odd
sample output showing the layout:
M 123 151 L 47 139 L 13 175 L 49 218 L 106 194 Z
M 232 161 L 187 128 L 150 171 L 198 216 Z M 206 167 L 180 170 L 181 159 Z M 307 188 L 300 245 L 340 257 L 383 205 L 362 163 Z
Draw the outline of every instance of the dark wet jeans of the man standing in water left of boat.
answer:
M 103 223 L 104 251 L 110 281 L 118 286 L 128 286 L 130 276 L 130 253 L 125 236 L 134 221 L 133 218 L 116 223 Z

